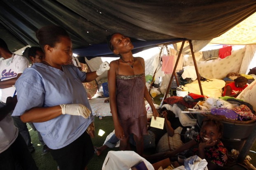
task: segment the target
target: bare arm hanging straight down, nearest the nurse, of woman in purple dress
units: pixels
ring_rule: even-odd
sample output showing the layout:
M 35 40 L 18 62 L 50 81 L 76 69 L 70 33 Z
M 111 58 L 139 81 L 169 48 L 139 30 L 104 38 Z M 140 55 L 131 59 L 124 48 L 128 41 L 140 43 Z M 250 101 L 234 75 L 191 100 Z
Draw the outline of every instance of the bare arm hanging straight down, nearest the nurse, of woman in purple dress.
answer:
M 122 126 L 120 125 L 118 116 L 117 116 L 117 105 L 116 105 L 116 69 L 117 63 L 112 61 L 110 63 L 110 69 L 108 70 L 108 91 L 109 91 L 109 104 L 110 110 L 114 121 L 115 135 L 118 139 L 124 139 L 124 132 Z

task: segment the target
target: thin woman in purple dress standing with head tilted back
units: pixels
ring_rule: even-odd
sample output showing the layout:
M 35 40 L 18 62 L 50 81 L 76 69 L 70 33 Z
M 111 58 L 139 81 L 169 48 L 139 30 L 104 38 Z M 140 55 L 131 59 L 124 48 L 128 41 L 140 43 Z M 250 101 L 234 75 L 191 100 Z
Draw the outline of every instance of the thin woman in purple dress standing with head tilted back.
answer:
M 147 134 L 144 98 L 150 104 L 153 116 L 159 116 L 146 88 L 145 63 L 143 58 L 132 55 L 134 46 L 129 37 L 115 33 L 108 39 L 113 53 L 121 56 L 110 63 L 108 71 L 110 109 L 115 135 L 120 139 L 120 150 L 130 150 L 129 135 L 133 133 L 137 153 L 142 156 L 142 135 Z

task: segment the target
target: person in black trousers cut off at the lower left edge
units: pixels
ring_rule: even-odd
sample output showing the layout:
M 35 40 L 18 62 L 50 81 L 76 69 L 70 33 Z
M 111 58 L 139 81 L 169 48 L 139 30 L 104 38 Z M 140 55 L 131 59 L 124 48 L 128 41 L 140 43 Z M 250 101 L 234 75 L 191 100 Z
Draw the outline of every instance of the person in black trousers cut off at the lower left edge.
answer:
M 8 98 L 6 103 L 0 108 L 0 170 L 38 170 L 23 137 L 8 114 L 14 109 L 17 96 Z

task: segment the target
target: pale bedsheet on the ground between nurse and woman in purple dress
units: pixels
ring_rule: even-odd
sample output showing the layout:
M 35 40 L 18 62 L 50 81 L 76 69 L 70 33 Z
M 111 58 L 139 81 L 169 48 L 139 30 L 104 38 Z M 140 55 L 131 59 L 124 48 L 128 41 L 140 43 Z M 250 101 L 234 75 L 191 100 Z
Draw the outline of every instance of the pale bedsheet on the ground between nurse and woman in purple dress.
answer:
M 104 103 L 104 100 L 106 100 L 106 98 L 94 98 L 89 100 L 94 116 L 112 116 L 109 102 Z

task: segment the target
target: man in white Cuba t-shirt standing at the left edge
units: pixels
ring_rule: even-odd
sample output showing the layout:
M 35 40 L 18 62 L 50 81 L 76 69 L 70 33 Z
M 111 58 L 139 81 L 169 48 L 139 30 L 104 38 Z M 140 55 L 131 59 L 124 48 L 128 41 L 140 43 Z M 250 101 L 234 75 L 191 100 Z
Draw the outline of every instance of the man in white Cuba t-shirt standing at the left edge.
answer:
M 0 38 L 0 88 L 2 90 L 2 98 L 0 108 L 5 106 L 6 99 L 13 96 L 15 92 L 15 82 L 21 76 L 23 71 L 28 68 L 28 60 L 24 56 L 13 54 L 9 51 L 7 44 Z M 11 114 L 11 113 L 10 113 Z M 31 144 L 31 137 L 28 132 L 26 123 L 23 123 L 19 117 L 13 116 L 14 125 L 19 129 L 22 137 L 28 145 L 29 151 L 35 151 Z

